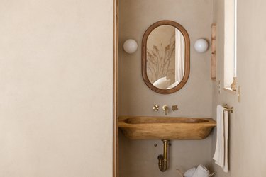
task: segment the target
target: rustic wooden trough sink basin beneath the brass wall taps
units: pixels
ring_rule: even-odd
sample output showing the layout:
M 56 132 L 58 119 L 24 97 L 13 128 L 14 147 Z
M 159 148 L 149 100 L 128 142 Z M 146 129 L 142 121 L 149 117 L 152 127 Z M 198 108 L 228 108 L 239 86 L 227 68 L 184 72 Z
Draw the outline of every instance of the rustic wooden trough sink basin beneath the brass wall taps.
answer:
M 215 126 L 216 122 L 211 118 L 118 118 L 118 127 L 129 139 L 204 139 Z

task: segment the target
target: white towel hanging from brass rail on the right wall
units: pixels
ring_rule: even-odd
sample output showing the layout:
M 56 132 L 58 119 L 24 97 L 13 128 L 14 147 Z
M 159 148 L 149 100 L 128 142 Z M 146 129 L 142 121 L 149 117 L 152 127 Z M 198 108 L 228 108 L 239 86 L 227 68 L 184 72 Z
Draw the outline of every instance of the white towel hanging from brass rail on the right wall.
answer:
M 217 106 L 217 136 L 214 160 L 224 172 L 228 172 L 228 111 Z

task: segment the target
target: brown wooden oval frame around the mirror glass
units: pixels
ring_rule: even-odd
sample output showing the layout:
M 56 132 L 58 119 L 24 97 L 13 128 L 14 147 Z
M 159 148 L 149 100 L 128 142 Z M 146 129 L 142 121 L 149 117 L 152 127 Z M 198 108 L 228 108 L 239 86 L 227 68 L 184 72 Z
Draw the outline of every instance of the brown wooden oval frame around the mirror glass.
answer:
M 150 35 L 150 33 L 157 28 L 160 25 L 172 25 L 174 28 L 177 28 L 182 35 L 184 35 L 184 42 L 185 42 L 185 52 L 184 52 L 184 76 L 182 81 L 175 86 L 172 89 L 159 89 L 156 86 L 153 86 L 153 84 L 148 79 L 147 75 L 147 40 Z M 158 21 L 156 23 L 153 23 L 153 25 L 150 25 L 150 27 L 145 31 L 143 35 L 143 41 L 142 41 L 142 55 L 141 55 L 141 69 L 142 69 L 142 75 L 143 80 L 145 81 L 145 84 L 153 91 L 161 94 L 170 94 L 174 93 L 176 91 L 179 91 L 182 89 L 182 87 L 187 83 L 187 79 L 189 79 L 189 71 L 190 71 L 190 40 L 189 40 L 189 34 L 187 33 L 187 30 L 185 30 L 182 25 L 175 21 Z

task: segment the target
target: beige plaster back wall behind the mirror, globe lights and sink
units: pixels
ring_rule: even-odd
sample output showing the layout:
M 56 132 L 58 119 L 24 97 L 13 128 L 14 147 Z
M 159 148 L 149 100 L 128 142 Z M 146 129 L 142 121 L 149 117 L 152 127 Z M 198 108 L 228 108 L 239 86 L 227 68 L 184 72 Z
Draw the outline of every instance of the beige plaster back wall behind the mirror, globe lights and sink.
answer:
M 168 116 L 211 117 L 210 50 L 199 54 L 194 50 L 198 38 L 211 38 L 211 0 L 120 0 L 119 1 L 119 115 L 160 115 L 162 105 L 179 105 Z M 141 76 L 141 40 L 145 30 L 160 20 L 177 21 L 187 30 L 191 40 L 191 72 L 183 89 L 170 95 L 151 91 Z M 133 38 L 139 48 L 132 55 L 123 51 L 123 42 Z M 153 105 L 160 112 L 153 112 Z M 158 146 L 154 147 L 153 144 Z M 162 173 L 157 155 L 162 142 L 130 141 L 119 136 L 121 177 L 177 176 L 176 168 L 185 170 L 198 164 L 211 164 L 211 137 L 200 141 L 172 141 L 170 168 Z

